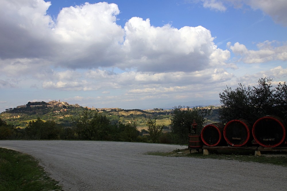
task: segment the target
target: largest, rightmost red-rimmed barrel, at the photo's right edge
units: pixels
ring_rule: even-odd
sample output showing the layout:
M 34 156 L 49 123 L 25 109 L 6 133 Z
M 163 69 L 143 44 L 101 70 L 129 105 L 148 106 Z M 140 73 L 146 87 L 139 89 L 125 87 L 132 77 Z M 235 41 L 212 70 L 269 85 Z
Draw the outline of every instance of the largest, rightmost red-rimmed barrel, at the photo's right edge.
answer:
M 252 134 L 262 147 L 278 147 L 286 138 L 286 125 L 279 117 L 264 116 L 253 124 Z

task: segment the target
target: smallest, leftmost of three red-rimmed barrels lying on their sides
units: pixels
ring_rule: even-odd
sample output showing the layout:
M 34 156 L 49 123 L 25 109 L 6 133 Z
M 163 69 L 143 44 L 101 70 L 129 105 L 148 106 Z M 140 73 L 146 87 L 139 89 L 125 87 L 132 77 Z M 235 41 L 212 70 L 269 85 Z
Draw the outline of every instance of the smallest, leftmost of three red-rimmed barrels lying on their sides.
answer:
M 223 129 L 224 124 L 222 123 L 212 123 L 206 125 L 201 130 L 202 142 L 210 147 L 222 145 L 222 143 L 224 142 Z

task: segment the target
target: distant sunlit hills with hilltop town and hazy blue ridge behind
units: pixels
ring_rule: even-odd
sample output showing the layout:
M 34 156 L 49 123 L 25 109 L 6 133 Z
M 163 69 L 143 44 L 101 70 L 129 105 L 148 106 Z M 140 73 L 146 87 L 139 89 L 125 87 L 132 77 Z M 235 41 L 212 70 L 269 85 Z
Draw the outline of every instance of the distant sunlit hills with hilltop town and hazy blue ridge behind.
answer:
M 199 104 L 200 103 L 200 104 Z M 190 101 L 185 103 L 174 103 L 170 106 L 164 108 L 154 108 L 150 110 L 124 110 L 120 108 L 84 108 L 81 106 L 74 107 L 75 105 L 63 105 L 55 107 L 48 107 L 49 103 L 46 102 L 28 102 L 28 104 L 23 107 L 11 108 L 6 112 L 0 114 L 0 118 L 7 121 L 7 124 L 11 124 L 15 127 L 24 128 L 28 125 L 31 120 L 36 120 L 40 118 L 41 120 L 53 120 L 64 127 L 69 127 L 72 124 L 73 118 L 80 116 L 84 110 L 98 110 L 98 112 L 106 115 L 112 123 L 117 124 L 118 122 L 128 123 L 136 121 L 138 128 L 146 128 L 146 120 L 148 118 L 157 119 L 158 124 L 165 126 L 170 125 L 170 117 L 173 113 L 174 106 L 189 106 L 193 108 L 194 106 L 216 106 L 218 104 L 217 100 L 204 100 L 204 101 Z M 28 107 L 27 107 L 28 106 Z M 206 116 L 206 118 L 211 121 L 218 121 L 218 111 L 213 110 L 211 116 Z

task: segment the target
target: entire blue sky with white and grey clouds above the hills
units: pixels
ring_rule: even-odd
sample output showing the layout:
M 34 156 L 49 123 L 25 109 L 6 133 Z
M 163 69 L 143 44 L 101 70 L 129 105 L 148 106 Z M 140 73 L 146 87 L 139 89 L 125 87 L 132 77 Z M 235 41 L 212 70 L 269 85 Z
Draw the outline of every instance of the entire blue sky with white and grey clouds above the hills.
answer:
M 1 0 L 0 112 L 149 109 L 287 78 L 286 0 Z

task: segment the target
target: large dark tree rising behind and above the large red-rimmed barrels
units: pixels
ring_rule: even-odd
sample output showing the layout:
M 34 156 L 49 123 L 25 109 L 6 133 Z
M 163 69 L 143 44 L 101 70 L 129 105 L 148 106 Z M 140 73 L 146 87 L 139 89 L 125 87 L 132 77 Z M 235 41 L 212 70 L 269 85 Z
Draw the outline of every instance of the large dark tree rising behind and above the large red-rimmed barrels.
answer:
M 278 87 L 272 89 L 271 82 L 272 79 L 265 77 L 258 80 L 257 87 L 246 87 L 239 83 L 239 87 L 232 90 L 226 86 L 226 89 L 219 93 L 222 103 L 219 108 L 221 122 L 242 118 L 254 123 L 265 115 L 286 118 L 286 83 L 279 83 Z

